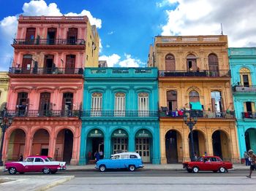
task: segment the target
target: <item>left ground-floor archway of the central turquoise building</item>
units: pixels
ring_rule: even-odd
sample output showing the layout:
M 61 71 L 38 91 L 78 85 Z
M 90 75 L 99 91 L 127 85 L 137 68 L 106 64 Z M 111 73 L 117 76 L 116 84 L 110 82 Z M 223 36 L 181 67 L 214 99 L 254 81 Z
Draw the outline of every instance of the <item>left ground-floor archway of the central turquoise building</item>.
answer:
M 88 133 L 86 144 L 86 156 L 89 163 L 94 163 L 94 153 L 103 152 L 104 156 L 104 133 L 102 130 L 93 129 Z M 89 154 L 90 153 L 90 154 Z M 91 162 L 90 162 L 91 161 Z

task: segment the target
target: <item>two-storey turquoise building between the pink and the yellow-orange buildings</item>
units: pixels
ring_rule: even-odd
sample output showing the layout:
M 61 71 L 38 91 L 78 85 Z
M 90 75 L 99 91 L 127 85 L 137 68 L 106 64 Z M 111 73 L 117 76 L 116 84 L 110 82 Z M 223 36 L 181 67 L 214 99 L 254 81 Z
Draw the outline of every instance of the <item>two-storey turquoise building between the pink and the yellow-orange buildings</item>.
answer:
M 159 164 L 157 69 L 86 68 L 84 79 L 80 165 L 96 151 L 138 152 Z

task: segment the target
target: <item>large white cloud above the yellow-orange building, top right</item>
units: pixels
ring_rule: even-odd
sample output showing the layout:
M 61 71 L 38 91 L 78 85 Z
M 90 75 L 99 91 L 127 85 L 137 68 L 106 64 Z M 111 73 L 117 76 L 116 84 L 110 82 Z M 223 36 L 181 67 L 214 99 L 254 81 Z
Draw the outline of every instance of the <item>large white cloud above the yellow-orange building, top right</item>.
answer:
M 162 35 L 221 34 L 222 23 L 230 47 L 256 45 L 256 1 L 168 1 L 178 2 L 178 7 L 166 10 L 167 23 L 162 26 Z

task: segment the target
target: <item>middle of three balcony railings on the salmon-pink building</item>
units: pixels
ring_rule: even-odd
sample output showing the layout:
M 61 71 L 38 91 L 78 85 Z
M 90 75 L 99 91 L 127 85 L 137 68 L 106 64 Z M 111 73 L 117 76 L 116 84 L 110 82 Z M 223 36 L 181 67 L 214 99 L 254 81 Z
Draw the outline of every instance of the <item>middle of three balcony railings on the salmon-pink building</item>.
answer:
M 9 74 L 83 74 L 83 68 L 15 68 L 9 69 Z

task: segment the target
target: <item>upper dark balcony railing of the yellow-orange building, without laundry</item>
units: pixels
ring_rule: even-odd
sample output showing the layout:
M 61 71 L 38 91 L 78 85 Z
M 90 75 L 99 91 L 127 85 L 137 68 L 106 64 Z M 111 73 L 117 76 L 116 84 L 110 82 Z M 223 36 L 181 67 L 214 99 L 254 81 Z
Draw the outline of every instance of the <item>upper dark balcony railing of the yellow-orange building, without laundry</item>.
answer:
M 186 70 L 159 70 L 159 77 L 231 77 L 229 70 L 219 71 L 186 71 Z

